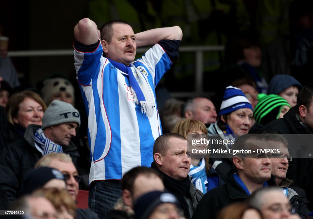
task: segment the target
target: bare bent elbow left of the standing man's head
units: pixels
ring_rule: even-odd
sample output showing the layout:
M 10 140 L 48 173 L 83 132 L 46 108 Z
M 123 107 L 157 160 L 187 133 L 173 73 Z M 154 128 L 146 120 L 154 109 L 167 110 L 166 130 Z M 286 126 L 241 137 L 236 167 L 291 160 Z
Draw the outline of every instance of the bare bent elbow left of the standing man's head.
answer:
M 94 44 L 99 39 L 98 27 L 95 22 L 85 17 L 74 27 L 74 37 L 85 45 Z

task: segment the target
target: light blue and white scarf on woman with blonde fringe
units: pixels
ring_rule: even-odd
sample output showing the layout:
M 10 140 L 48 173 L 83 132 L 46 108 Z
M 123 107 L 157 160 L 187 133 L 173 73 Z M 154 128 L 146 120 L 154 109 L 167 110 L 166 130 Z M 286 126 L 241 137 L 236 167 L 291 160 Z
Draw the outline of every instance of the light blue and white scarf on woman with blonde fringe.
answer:
M 191 182 L 195 187 L 205 194 L 207 192 L 207 187 L 205 185 L 208 184 L 208 181 L 207 173 L 205 172 L 204 158 L 200 160 L 199 166 L 194 167 L 192 164 L 190 165 L 188 175 L 192 177 Z

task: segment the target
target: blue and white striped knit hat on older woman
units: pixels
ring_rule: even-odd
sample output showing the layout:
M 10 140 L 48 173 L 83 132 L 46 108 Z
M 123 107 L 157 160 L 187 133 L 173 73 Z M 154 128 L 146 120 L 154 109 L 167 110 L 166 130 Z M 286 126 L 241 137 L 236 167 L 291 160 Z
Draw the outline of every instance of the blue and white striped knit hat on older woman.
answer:
M 249 108 L 253 111 L 251 103 L 238 87 L 226 87 L 218 116 L 228 114 L 242 108 Z

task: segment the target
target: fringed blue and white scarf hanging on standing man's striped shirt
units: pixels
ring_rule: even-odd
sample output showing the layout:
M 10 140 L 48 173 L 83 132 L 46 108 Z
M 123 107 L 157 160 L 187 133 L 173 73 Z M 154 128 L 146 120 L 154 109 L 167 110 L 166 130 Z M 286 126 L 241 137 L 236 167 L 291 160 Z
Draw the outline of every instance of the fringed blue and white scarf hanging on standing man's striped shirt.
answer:
M 141 106 L 141 113 L 146 113 L 147 116 L 151 117 L 153 115 L 154 108 L 156 107 L 156 103 L 149 82 L 147 81 L 146 77 L 143 76 L 144 74 L 148 74 L 146 72 L 147 70 L 141 66 L 135 67 L 131 64 L 131 68 L 111 59 L 109 59 L 109 61 L 116 68 L 128 74 L 129 83 L 131 85 L 131 93 L 134 101 L 137 105 Z

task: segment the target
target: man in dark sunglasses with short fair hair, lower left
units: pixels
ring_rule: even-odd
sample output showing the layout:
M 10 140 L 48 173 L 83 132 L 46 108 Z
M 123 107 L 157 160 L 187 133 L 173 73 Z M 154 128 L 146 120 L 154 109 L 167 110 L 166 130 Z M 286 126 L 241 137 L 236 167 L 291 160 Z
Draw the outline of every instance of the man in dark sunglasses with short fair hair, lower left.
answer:
M 81 177 L 78 175 L 71 157 L 64 153 L 50 153 L 38 160 L 35 168 L 38 167 L 51 167 L 62 172 L 66 182 L 66 189 L 73 200 L 76 201 L 78 195 L 78 183 L 80 182 Z M 84 218 L 97 219 L 98 216 L 90 209 L 76 209 L 76 219 Z

